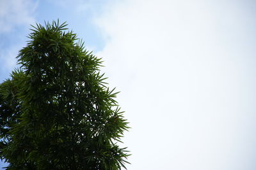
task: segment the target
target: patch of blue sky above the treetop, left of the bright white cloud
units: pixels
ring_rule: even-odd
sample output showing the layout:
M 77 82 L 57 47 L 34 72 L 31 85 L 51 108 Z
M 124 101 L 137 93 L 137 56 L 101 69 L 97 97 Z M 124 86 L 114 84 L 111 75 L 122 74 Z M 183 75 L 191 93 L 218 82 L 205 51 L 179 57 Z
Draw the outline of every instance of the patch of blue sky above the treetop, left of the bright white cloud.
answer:
M 44 24 L 44 21 L 60 19 L 67 22 L 68 28 L 76 32 L 79 38 L 86 41 L 92 50 L 100 50 L 104 40 L 99 29 L 93 24 L 93 17 L 100 13 L 104 1 L 1 1 L 0 48 L 1 67 L 0 80 L 8 77 L 15 66 L 15 55 L 26 45 L 30 24 Z M 19 21 L 19 20 L 23 21 Z M 7 56 L 6 56 L 7 55 Z M 12 55 L 12 56 L 10 56 Z M 6 64 L 7 62 L 7 64 Z M 4 66 L 6 65 L 6 66 Z

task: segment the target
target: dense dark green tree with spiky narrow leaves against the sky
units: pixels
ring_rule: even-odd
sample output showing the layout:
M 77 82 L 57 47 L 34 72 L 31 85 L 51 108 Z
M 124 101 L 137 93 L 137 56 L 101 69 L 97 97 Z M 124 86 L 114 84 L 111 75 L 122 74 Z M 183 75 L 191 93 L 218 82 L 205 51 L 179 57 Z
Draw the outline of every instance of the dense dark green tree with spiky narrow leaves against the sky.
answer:
M 0 84 L 0 157 L 7 169 L 120 169 L 127 122 L 101 59 L 76 43 L 67 24 L 37 24 Z

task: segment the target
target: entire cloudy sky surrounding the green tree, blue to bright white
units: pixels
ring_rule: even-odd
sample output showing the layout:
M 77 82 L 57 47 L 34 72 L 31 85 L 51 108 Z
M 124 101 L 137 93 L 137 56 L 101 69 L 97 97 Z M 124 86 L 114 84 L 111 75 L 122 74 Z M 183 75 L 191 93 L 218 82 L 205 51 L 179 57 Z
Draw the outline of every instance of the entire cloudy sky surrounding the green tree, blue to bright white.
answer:
M 256 1 L 0 0 L 0 81 L 58 18 L 120 91 L 127 169 L 256 169 Z

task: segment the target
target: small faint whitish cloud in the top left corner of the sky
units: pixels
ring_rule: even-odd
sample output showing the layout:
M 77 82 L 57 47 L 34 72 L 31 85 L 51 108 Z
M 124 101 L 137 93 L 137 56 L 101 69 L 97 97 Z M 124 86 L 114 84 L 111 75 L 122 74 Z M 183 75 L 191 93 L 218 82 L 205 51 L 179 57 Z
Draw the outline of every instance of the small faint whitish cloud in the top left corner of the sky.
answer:
M 36 4 L 32 0 L 0 1 L 0 33 L 10 32 L 19 25 L 33 23 L 33 11 L 36 9 Z

